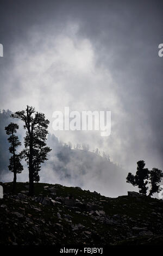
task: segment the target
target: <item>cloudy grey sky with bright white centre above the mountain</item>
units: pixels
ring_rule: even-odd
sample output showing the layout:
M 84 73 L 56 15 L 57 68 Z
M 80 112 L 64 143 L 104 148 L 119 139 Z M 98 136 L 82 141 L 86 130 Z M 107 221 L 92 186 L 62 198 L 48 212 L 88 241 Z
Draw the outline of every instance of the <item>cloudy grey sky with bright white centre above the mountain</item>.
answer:
M 134 170 L 163 168 L 162 1 L 2 1 L 1 109 L 111 111 L 111 135 L 60 131 Z

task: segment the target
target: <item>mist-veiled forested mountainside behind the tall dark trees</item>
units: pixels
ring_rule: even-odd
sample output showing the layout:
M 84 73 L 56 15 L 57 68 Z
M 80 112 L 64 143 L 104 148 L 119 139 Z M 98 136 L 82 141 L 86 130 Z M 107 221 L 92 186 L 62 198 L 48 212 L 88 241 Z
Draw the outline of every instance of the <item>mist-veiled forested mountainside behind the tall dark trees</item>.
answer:
M 20 120 L 10 118 L 12 112 L 2 111 L 0 113 L 0 178 L 3 182 L 12 181 L 13 174 L 8 170 L 9 164 L 9 143 L 8 136 L 5 134 L 4 127 L 11 121 L 20 125 L 18 137 L 22 141 L 23 147 L 24 130 Z M 58 183 L 66 186 L 79 186 L 90 191 L 98 191 L 106 196 L 116 197 L 127 193 L 126 170 L 112 163 L 109 157 L 99 155 L 89 151 L 89 147 L 83 145 L 79 149 L 77 145 L 74 149 L 71 143 L 64 144 L 55 135 L 49 133 L 47 145 L 52 148 L 49 153 L 48 161 L 42 164 L 40 171 L 40 181 L 47 183 Z M 28 181 L 28 169 L 26 162 L 23 162 L 24 170 L 17 175 L 18 181 Z

